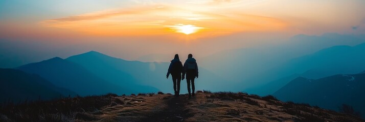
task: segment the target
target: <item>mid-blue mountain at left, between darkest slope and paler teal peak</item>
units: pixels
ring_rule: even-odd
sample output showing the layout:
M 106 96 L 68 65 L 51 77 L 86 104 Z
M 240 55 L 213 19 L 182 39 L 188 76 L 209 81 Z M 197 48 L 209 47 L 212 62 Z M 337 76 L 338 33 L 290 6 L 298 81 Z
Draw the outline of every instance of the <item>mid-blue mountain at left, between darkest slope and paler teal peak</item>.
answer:
M 58 87 L 75 91 L 78 95 L 101 95 L 106 93 L 129 94 L 135 92 L 128 86 L 112 84 L 95 76 L 82 66 L 59 57 L 20 66 L 17 69 L 37 74 Z

